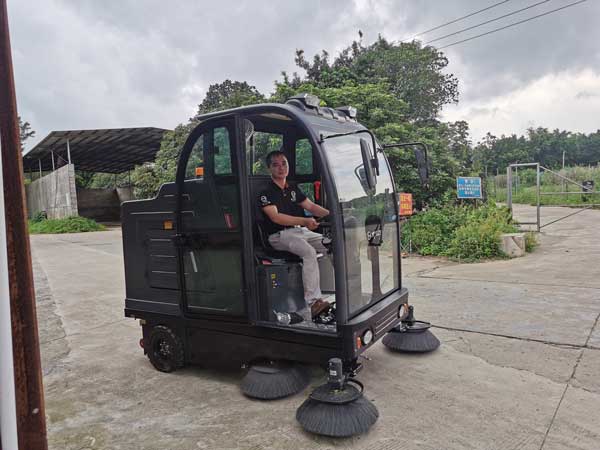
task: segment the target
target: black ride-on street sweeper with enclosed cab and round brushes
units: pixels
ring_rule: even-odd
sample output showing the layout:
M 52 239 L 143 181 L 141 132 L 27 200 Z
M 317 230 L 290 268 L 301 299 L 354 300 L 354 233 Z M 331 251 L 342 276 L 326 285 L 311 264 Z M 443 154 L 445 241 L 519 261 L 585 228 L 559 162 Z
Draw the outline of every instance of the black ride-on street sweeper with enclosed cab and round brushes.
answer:
M 328 367 L 296 417 L 310 432 L 351 436 L 378 417 L 355 379 L 359 356 L 381 338 L 397 351 L 437 348 L 402 287 L 389 163 L 356 114 L 301 94 L 200 116 L 175 182 L 123 203 L 125 315 L 140 320 L 156 369 L 242 366 L 244 394 L 274 399 L 308 386 L 306 364 Z M 426 149 L 414 146 L 426 183 Z M 278 149 L 288 179 L 330 211 L 317 230 L 328 305 L 314 318 L 293 320 L 306 308 L 302 260 L 270 247 L 258 202 L 271 183 L 264 157 Z

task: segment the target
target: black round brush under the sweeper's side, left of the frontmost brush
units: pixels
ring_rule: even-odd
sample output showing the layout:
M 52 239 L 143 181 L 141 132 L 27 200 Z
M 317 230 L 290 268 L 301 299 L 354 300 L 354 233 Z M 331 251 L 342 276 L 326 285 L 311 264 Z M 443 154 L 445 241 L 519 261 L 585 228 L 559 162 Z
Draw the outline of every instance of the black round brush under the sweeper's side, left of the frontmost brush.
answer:
M 250 367 L 242 380 L 242 392 L 248 397 L 274 400 L 302 391 L 310 382 L 308 370 L 285 361 L 267 361 Z

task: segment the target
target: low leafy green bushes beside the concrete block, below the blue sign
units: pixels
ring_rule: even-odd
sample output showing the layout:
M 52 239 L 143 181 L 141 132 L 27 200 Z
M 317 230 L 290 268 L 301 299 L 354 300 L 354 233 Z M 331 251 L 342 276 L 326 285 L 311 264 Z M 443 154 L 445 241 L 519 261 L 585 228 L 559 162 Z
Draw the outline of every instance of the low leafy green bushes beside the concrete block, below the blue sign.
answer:
M 516 231 L 508 209 L 493 203 L 445 205 L 413 216 L 402 229 L 402 241 L 408 245 L 410 239 L 422 255 L 476 261 L 504 256 L 500 235 Z

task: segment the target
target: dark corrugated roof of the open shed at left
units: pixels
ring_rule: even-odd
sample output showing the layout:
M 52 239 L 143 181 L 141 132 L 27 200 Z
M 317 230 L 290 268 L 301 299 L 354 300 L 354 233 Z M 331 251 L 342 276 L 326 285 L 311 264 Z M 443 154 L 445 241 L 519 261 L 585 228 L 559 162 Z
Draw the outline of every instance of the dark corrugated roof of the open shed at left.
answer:
M 152 127 L 52 131 L 23 155 L 23 168 L 38 171 L 41 161 L 43 171 L 52 170 L 52 152 L 55 167 L 64 165 L 69 141 L 71 162 L 77 170 L 126 172 L 154 160 L 166 131 Z

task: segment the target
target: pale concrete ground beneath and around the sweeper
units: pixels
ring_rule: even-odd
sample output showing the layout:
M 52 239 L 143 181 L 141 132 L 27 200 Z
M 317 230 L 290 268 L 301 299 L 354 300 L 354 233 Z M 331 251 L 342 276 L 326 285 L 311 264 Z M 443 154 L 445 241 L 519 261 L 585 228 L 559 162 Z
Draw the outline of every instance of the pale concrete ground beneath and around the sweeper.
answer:
M 359 378 L 379 421 L 337 440 L 296 422 L 308 390 L 266 403 L 240 393 L 238 372 L 154 370 L 123 317 L 120 230 L 32 236 L 50 448 L 597 450 L 599 224 L 586 211 L 544 228 L 516 260 L 404 259 L 417 316 L 442 346 L 370 349 Z

